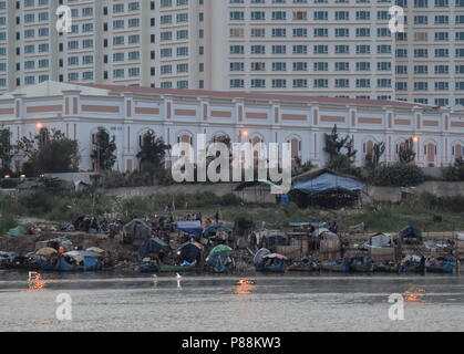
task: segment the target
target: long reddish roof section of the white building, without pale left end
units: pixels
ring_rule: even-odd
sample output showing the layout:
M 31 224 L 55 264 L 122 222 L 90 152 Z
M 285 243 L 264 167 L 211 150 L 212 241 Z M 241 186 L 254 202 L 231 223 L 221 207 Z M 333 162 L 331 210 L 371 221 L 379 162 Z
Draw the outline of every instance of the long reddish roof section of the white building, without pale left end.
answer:
M 76 83 L 73 83 L 76 84 Z M 195 97 L 218 97 L 218 98 L 245 98 L 245 100 L 265 100 L 265 101 L 292 101 L 292 102 L 318 102 L 333 104 L 353 104 L 353 105 L 381 105 L 381 106 L 426 106 L 417 103 L 401 101 L 381 101 L 381 100 L 358 100 L 343 97 L 321 97 L 321 96 L 302 96 L 292 94 L 268 94 L 268 93 L 247 93 L 237 91 L 205 91 L 205 90 L 178 90 L 178 88 L 158 88 L 158 87 L 141 87 L 124 85 L 106 85 L 106 84 L 82 84 L 76 85 L 89 86 L 94 88 L 109 90 L 120 93 L 134 94 L 154 94 L 154 95 L 176 95 L 176 96 L 195 96 Z

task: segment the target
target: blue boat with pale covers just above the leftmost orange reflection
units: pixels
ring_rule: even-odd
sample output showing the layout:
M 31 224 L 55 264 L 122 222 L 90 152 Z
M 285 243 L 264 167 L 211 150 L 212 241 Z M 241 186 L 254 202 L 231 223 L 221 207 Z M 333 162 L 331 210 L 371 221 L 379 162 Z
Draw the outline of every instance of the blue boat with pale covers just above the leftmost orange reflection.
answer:
M 38 259 L 40 269 L 45 271 L 95 271 L 101 270 L 103 264 L 101 256 L 91 251 L 71 251 L 63 253 L 62 257 L 40 257 Z

